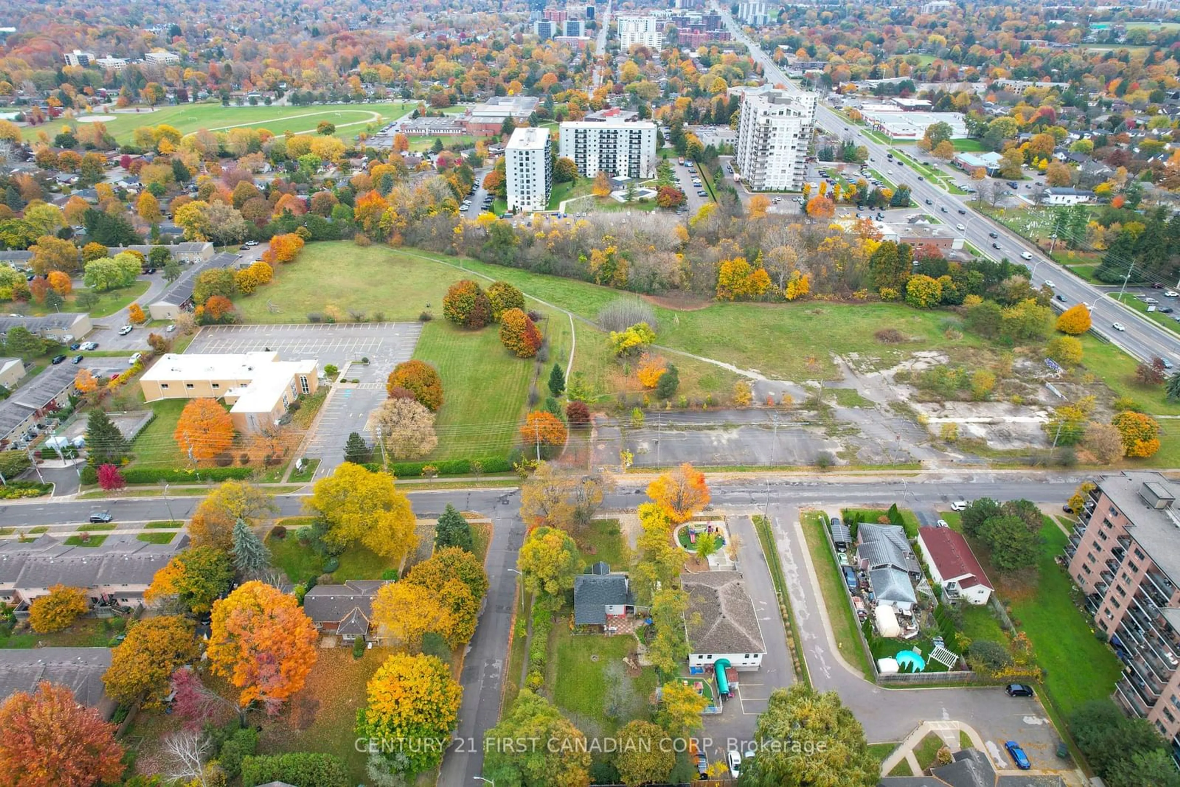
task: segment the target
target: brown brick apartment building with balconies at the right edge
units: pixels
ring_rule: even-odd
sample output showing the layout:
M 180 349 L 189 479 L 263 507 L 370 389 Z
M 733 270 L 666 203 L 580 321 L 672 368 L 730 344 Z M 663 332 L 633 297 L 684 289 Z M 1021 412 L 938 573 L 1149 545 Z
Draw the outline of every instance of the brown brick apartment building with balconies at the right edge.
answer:
M 1180 753 L 1180 511 L 1154 472 L 1106 476 L 1066 546 L 1086 609 L 1123 662 L 1115 702 Z

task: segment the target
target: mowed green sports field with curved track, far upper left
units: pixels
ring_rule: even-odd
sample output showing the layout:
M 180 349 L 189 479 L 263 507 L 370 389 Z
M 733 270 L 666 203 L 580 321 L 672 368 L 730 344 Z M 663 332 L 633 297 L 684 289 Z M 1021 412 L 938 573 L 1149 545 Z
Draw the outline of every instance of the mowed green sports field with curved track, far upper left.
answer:
M 276 135 L 287 131 L 296 133 L 315 131 L 321 120 L 334 123 L 336 136 L 352 139 L 368 123 L 384 123 L 413 112 L 417 101 L 392 101 L 387 104 L 333 104 L 323 106 L 222 106 L 219 103 L 184 104 L 164 106 L 150 112 L 116 112 L 114 120 L 107 120 L 106 130 L 120 143 L 130 143 L 132 133 L 140 126 L 168 124 L 181 133 L 192 133 L 201 129 L 218 131 L 229 126 L 253 126 L 269 129 Z M 85 116 L 84 116 L 85 117 Z M 77 127 L 78 119 L 61 120 L 50 126 L 50 136 L 64 126 Z M 84 125 L 84 124 L 83 124 Z

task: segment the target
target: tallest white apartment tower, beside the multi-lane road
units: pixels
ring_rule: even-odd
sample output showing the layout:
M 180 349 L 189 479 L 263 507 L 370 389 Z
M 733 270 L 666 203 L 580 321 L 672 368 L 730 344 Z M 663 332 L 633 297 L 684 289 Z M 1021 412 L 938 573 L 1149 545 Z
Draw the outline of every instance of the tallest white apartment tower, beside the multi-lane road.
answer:
M 815 93 L 746 91 L 734 163 L 754 191 L 800 191 L 815 122 Z

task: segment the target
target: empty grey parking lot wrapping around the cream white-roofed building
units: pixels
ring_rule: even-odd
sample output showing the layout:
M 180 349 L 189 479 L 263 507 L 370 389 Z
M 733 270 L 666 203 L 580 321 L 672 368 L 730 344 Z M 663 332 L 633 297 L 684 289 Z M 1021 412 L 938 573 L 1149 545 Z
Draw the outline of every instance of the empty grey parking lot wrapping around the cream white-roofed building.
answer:
M 360 432 L 373 442 L 374 435 L 365 428 L 369 413 L 385 400 L 385 379 L 394 366 L 409 360 L 420 333 L 417 322 L 214 326 L 203 328 L 185 353 L 270 349 L 283 360 L 315 359 L 321 369 L 329 363 L 343 369 L 348 361 L 358 361 L 347 376 L 360 380 L 359 386 L 341 388 L 328 398 L 304 444 L 302 455 L 320 459 L 315 477 L 322 478 L 343 461 L 350 432 Z M 365 358 L 368 366 L 359 363 Z

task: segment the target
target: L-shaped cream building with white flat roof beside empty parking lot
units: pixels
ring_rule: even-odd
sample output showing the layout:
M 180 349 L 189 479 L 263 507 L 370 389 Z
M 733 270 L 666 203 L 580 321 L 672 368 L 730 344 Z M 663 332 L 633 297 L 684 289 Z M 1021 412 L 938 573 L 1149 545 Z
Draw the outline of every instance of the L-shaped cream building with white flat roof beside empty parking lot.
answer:
M 319 388 L 317 361 L 281 361 L 278 353 L 164 354 L 139 379 L 144 400 L 222 399 L 238 432 L 274 426 L 290 404 Z

